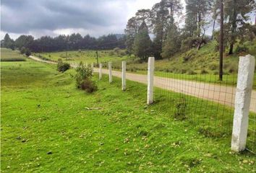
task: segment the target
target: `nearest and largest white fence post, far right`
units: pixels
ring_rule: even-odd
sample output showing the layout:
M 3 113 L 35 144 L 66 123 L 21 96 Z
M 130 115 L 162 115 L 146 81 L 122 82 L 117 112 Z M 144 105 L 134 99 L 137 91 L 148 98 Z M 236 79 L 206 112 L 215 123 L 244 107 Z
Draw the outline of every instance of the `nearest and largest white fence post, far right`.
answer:
M 231 150 L 233 151 L 243 151 L 246 146 L 254 70 L 254 56 L 247 55 L 239 57 L 231 141 Z

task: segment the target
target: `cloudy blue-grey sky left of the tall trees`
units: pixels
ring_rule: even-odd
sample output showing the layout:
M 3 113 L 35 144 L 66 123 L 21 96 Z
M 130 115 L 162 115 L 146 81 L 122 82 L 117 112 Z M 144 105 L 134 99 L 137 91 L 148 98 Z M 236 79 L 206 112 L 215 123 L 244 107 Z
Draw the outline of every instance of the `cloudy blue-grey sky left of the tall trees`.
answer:
M 80 32 L 98 37 L 124 33 L 138 9 L 160 0 L 1 0 L 1 39 Z

